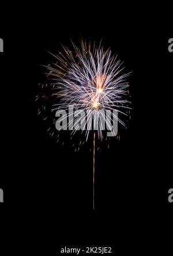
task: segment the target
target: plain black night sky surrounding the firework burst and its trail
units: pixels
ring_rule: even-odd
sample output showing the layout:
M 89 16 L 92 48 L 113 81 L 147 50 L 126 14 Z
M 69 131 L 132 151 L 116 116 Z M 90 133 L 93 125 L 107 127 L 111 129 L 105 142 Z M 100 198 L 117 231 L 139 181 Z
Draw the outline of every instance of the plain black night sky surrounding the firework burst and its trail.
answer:
M 133 251 L 136 243 L 144 245 L 138 234 L 149 235 L 171 223 L 171 23 L 168 15 L 163 19 L 167 10 L 131 9 L 111 3 L 81 9 L 59 5 L 26 8 L 18 18 L 17 13 L 2 18 L 3 210 L 25 216 L 27 222 L 34 219 L 37 231 L 48 229 L 51 248 L 111 244 L 123 251 L 126 243 Z M 92 152 L 84 148 L 74 153 L 49 138 L 34 102 L 37 84 L 44 79 L 40 64 L 52 60 L 45 50 L 55 52 L 60 42 L 69 44 L 81 35 L 103 38 L 104 46 L 132 71 L 129 128 L 110 150 L 103 147 L 96 153 L 95 211 Z

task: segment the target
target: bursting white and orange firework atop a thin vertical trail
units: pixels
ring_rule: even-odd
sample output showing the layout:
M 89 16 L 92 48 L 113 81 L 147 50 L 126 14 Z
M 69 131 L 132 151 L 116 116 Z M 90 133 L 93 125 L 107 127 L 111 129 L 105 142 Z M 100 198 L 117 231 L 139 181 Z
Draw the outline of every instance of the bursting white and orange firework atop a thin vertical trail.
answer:
M 67 109 L 70 105 L 76 110 L 84 110 L 86 115 L 81 120 L 90 120 L 88 127 L 81 129 L 85 131 L 85 139 L 88 139 L 92 130 L 92 120 L 97 127 L 98 138 L 103 138 L 103 120 L 106 127 L 112 130 L 114 120 L 125 126 L 124 121 L 119 116 L 127 116 L 130 109 L 127 94 L 129 84 L 126 77 L 129 73 L 122 73 L 122 62 L 117 60 L 117 56 L 111 55 L 111 50 L 104 50 L 101 42 L 97 47 L 94 43 L 86 44 L 81 40 L 80 47 L 72 42 L 73 51 L 62 46 L 63 53 L 52 54 L 57 60 L 54 64 L 46 66 L 47 76 L 51 79 L 52 86 L 52 111 Z M 106 110 L 116 110 L 111 112 L 111 118 L 106 118 Z M 70 120 L 69 114 L 69 120 Z M 71 118 L 72 120 L 72 118 Z M 69 121 L 67 127 L 75 120 Z M 66 128 L 67 128 L 66 127 Z M 79 125 L 74 127 L 72 135 L 79 129 Z

